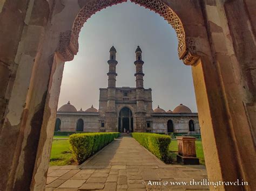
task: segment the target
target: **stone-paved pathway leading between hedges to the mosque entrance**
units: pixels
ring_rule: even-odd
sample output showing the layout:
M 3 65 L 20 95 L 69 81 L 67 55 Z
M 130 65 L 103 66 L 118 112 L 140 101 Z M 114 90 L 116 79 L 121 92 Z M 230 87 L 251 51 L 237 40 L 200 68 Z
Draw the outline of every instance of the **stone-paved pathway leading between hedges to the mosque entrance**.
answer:
M 202 165 L 166 165 L 133 138 L 120 137 L 82 165 L 49 167 L 46 190 L 207 190 L 170 184 L 206 178 Z

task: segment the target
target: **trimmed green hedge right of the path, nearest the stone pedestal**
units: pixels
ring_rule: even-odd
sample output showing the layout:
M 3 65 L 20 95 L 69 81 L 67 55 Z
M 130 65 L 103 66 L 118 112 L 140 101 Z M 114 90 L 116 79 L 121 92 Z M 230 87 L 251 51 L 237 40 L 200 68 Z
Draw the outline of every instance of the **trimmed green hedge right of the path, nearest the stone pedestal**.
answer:
M 169 145 L 171 143 L 170 136 L 156 133 L 132 133 L 132 137 L 159 159 L 163 161 L 167 160 Z

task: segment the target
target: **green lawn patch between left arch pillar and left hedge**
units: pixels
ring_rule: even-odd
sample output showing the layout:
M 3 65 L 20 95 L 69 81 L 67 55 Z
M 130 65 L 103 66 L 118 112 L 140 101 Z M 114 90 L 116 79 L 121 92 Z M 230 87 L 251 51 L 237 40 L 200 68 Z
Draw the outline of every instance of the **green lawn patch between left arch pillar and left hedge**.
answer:
M 50 166 L 70 165 L 73 163 L 69 139 L 53 139 Z

